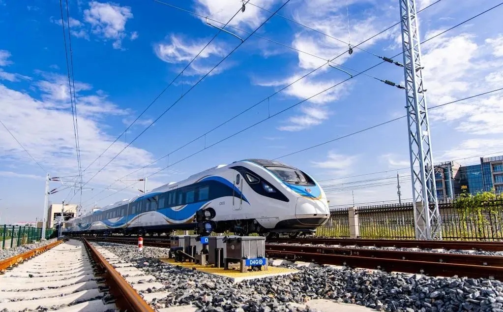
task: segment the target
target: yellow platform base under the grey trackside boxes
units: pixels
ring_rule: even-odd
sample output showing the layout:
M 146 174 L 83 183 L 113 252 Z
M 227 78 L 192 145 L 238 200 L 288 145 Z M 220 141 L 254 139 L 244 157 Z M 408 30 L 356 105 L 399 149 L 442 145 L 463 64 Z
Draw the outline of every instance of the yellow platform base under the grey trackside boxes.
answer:
M 224 268 L 213 268 L 210 265 L 203 266 L 194 264 L 192 262 L 175 262 L 175 259 L 173 258 L 159 258 L 159 260 L 167 264 L 179 265 L 183 268 L 196 269 L 197 271 L 201 271 L 207 274 L 214 274 L 227 277 L 234 280 L 235 282 L 240 282 L 245 279 L 255 279 L 276 275 L 287 275 L 299 272 L 298 270 L 268 266 L 267 271 L 249 271 L 246 273 L 241 273 L 238 270 L 225 270 Z

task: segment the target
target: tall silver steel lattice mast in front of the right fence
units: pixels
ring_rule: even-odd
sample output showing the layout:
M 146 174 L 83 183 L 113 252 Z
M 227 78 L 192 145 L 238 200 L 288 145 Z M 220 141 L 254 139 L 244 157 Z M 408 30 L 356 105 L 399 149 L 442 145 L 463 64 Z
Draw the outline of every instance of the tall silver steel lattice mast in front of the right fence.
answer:
M 415 0 L 399 0 L 416 240 L 442 239 Z M 431 181 L 431 183 L 429 183 Z M 420 207 L 417 207 L 420 204 Z

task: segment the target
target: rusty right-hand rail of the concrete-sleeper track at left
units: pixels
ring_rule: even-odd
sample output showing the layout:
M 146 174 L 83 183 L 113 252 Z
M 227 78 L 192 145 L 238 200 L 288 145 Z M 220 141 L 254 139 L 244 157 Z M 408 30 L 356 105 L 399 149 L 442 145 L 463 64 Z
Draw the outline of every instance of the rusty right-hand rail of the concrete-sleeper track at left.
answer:
M 91 256 L 96 263 L 105 271 L 104 277 L 110 292 L 114 295 L 117 306 L 122 310 L 131 312 L 154 312 L 154 309 L 143 300 L 136 290 L 117 272 L 113 266 L 91 245 L 87 239 L 82 241 L 91 251 Z

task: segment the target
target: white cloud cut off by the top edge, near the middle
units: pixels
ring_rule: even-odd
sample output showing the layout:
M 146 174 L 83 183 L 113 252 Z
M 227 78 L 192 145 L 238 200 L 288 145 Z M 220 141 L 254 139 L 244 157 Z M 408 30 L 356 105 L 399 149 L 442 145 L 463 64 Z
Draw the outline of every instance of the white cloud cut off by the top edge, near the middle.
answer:
M 271 9 L 276 0 L 254 0 L 253 3 L 264 9 Z M 196 12 L 208 16 L 216 21 L 227 23 L 232 16 L 241 9 L 242 3 L 236 0 L 197 0 Z M 247 5 L 244 12 L 239 12 L 228 24 L 246 28 L 257 28 L 269 16 L 255 6 Z M 201 18 L 206 23 L 206 20 Z

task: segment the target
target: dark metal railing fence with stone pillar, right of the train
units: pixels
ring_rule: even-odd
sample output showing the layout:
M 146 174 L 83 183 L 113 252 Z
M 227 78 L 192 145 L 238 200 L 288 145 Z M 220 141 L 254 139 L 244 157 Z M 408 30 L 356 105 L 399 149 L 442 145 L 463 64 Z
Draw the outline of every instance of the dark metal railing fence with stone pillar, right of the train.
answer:
M 332 210 L 328 221 L 318 227 L 317 236 L 360 237 L 374 239 L 414 239 L 412 203 L 355 207 L 353 224 L 358 232 L 350 233 L 350 208 Z M 456 209 L 454 203 L 439 203 L 442 238 L 445 240 L 503 240 L 503 198 L 498 197 L 480 209 Z

